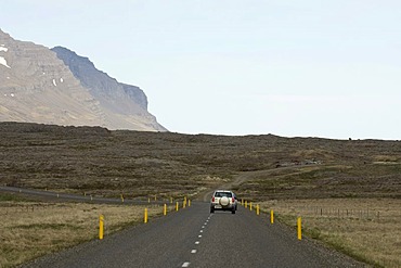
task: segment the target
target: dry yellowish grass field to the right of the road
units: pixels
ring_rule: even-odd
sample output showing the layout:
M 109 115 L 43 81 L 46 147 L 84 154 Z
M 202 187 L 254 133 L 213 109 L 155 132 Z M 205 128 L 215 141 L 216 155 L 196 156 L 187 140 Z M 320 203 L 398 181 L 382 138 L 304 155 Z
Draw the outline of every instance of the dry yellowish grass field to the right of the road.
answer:
M 401 200 L 272 200 L 260 207 L 294 233 L 301 217 L 305 235 L 376 267 L 401 267 Z

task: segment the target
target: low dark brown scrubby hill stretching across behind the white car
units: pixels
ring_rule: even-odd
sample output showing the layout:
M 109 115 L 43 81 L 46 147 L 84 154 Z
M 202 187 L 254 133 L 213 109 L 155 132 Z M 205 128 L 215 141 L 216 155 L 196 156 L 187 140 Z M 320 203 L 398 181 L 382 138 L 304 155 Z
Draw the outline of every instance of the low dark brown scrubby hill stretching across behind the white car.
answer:
M 401 199 L 400 141 L 0 123 L 0 149 L 1 186 L 203 200 L 232 183 L 238 196 L 258 201 Z

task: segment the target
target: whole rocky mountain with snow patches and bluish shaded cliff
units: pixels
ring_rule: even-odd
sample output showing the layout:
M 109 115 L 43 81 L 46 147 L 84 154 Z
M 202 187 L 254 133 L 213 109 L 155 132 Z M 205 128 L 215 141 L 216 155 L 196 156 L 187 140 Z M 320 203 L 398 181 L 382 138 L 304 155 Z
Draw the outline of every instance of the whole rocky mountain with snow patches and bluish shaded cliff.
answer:
M 0 122 L 167 131 L 139 87 L 68 49 L 14 40 L 1 29 L 0 81 Z

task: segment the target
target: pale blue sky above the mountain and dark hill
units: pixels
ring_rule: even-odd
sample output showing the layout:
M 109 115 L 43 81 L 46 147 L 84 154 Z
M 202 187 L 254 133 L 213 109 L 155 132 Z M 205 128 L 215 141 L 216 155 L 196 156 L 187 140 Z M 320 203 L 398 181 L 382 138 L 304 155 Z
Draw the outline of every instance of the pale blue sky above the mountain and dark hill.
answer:
M 140 86 L 170 131 L 401 139 L 399 0 L 3 0 L 0 27 Z

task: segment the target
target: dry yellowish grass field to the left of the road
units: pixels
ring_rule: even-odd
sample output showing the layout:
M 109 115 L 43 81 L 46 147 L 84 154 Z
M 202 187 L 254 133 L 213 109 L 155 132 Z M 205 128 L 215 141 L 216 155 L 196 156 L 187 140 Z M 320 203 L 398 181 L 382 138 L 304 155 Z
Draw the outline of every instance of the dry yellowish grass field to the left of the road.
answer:
M 108 235 L 143 222 L 143 206 L 132 205 L 1 201 L 0 267 L 14 267 L 99 238 L 100 215 L 104 215 L 104 235 Z M 148 206 L 150 220 L 161 214 L 161 206 Z

